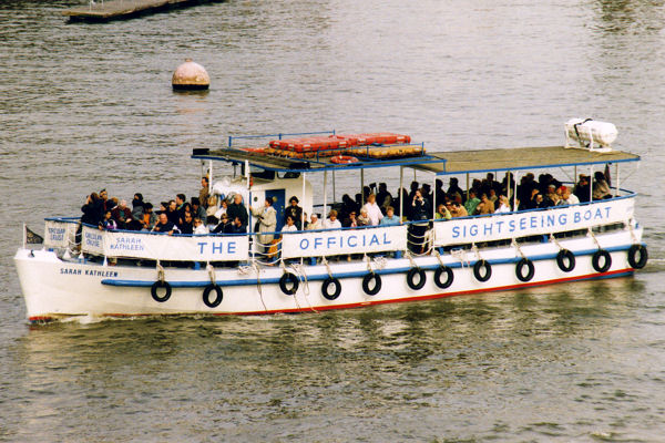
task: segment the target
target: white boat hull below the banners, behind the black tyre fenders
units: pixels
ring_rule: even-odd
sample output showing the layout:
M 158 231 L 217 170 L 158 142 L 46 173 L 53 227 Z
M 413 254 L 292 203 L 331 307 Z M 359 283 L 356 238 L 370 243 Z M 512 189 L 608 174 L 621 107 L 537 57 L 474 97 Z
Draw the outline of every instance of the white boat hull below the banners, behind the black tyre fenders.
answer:
M 417 257 L 413 261 L 408 258 L 375 259 L 369 264 L 331 261 L 330 272 L 341 282 L 341 293 L 335 300 L 321 295 L 328 270 L 320 264 L 296 266 L 297 270 L 287 266 L 288 271 L 300 274 L 299 288 L 293 296 L 280 290 L 278 279 L 284 274 L 280 267 L 260 268 L 258 276 L 257 268 L 217 268 L 215 280 L 223 289 L 223 300 L 215 308 L 203 301 L 204 287 L 211 282 L 205 268 L 166 268 L 164 278 L 173 287 L 173 292 L 168 300 L 158 302 L 151 295 L 151 285 L 157 280 L 154 267 L 65 261 L 53 251 L 23 248 L 18 250 L 14 260 L 31 321 L 71 316 L 265 315 L 355 308 L 631 275 L 634 269 L 628 264 L 627 250 L 635 240 L 641 240 L 642 229 L 634 229 L 633 234 L 627 229 L 615 230 L 596 234 L 595 237 L 597 244 L 591 237 L 559 240 L 561 247 L 575 255 L 576 265 L 569 272 L 561 270 L 556 264 L 560 246 L 554 243 L 522 245 L 521 253 L 511 246 L 479 249 L 480 258 L 488 260 L 492 267 L 491 278 L 484 282 L 479 281 L 473 272 L 473 264 L 479 258 L 474 251 L 456 256 L 444 254 L 440 258 Z M 602 272 L 592 265 L 592 255 L 598 245 L 612 258 L 611 267 Z M 515 265 L 522 255 L 534 265 L 534 275 L 529 281 L 521 281 L 515 275 Z M 446 289 L 433 281 L 439 260 L 453 270 L 453 281 Z M 407 284 L 407 272 L 413 264 L 424 269 L 427 275 L 424 286 L 418 290 Z M 362 289 L 368 266 L 380 275 L 382 281 L 375 296 L 365 293 Z

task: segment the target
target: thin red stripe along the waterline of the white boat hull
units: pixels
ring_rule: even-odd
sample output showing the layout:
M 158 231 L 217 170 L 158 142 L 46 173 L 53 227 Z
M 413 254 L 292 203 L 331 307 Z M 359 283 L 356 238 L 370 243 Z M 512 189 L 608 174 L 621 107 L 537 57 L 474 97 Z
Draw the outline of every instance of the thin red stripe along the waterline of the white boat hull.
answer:
M 318 312 L 318 311 L 327 311 L 327 310 L 332 310 L 332 309 L 352 309 L 352 308 L 360 308 L 360 307 L 372 306 L 372 305 L 397 303 L 397 302 L 416 301 L 416 300 L 433 300 L 437 298 L 447 298 L 447 297 L 466 296 L 466 295 L 472 295 L 472 293 L 522 289 L 522 288 L 530 288 L 530 287 L 534 287 L 534 286 L 563 284 L 563 282 L 577 281 L 577 280 L 590 280 L 590 279 L 597 279 L 597 278 L 612 277 L 612 276 L 618 276 L 618 275 L 630 275 L 633 272 L 634 272 L 633 268 L 626 268 L 626 269 L 612 270 L 612 271 L 602 272 L 602 274 L 589 274 L 586 276 L 579 276 L 579 277 L 557 278 L 557 279 L 553 279 L 553 280 L 543 280 L 543 281 L 536 281 L 536 282 L 523 282 L 523 284 L 519 284 L 519 285 L 500 286 L 497 288 L 484 288 L 484 289 L 472 289 L 472 290 L 464 290 L 464 291 L 457 291 L 457 292 L 432 293 L 429 296 L 413 296 L 413 297 L 406 297 L 406 298 L 390 299 L 390 300 L 376 300 L 376 301 L 368 300 L 368 301 L 361 301 L 359 303 L 320 306 L 320 307 L 316 307 L 316 308 L 275 309 L 275 310 L 249 311 L 249 312 L 209 312 L 209 315 L 212 315 L 212 316 L 265 316 L 265 315 L 274 315 L 274 313 Z M 201 315 L 201 313 L 205 313 L 205 312 L 194 312 L 193 315 Z M 160 315 L 155 315 L 155 313 L 104 313 L 101 317 L 126 318 L 126 317 L 186 316 L 186 315 L 187 313 L 160 313 Z M 35 316 L 35 317 L 28 318 L 28 320 L 31 322 L 42 322 L 42 321 L 45 322 L 45 321 L 53 320 L 53 318 L 50 316 Z

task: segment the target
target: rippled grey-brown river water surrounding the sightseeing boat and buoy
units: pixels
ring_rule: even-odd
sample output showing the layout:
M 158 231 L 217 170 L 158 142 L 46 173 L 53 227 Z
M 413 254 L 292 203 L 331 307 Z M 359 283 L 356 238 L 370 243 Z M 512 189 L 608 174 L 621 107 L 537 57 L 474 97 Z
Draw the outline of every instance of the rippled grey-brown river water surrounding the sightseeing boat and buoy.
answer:
M 66 24 L 78 1 L 3 0 L 0 441 L 663 441 L 663 3 L 229 0 Z M 185 58 L 206 66 L 208 93 L 172 92 Z M 634 278 L 27 323 L 21 224 L 78 215 L 102 187 L 195 195 L 193 147 L 331 128 L 431 151 L 553 145 L 573 116 L 614 122 L 617 147 L 643 156 L 622 172 L 651 255 Z

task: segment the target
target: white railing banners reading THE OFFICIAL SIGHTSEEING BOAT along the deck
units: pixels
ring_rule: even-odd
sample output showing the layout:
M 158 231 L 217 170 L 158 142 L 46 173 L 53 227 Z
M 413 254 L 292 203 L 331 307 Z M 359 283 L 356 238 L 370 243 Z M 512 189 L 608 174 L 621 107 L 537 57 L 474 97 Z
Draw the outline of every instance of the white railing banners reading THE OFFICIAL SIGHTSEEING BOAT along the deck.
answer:
M 634 194 L 606 200 L 543 209 L 446 219 L 405 222 L 395 226 L 247 233 L 166 235 L 151 231 L 101 230 L 76 217 L 47 219 L 44 245 L 93 256 L 172 261 L 254 261 L 326 256 L 392 254 L 428 255 L 433 248 L 514 240 L 529 236 L 626 224 L 633 218 Z M 80 238 L 80 244 L 76 241 Z

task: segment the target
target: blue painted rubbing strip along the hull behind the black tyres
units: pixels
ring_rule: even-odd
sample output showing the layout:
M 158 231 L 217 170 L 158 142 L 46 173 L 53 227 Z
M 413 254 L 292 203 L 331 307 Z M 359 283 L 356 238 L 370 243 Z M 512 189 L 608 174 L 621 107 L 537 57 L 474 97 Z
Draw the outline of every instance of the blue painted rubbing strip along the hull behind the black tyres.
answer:
M 617 251 L 622 251 L 622 250 L 628 250 L 631 248 L 631 246 L 632 245 L 615 246 L 615 247 L 611 247 L 611 248 L 605 248 L 605 250 L 608 253 L 617 253 Z M 597 249 L 585 249 L 585 250 L 581 250 L 581 251 L 575 251 L 575 253 L 573 253 L 573 255 L 575 257 L 591 256 L 596 250 Z M 552 260 L 552 259 L 556 258 L 556 254 L 542 254 L 542 255 L 538 255 L 538 256 L 531 256 L 528 258 L 532 261 Z M 490 265 L 507 265 L 507 264 L 515 264 L 515 262 L 520 261 L 521 259 L 522 259 L 522 257 L 502 258 L 502 259 L 488 260 L 488 262 Z M 478 260 L 469 261 L 468 266 L 471 267 L 471 266 L 475 265 L 477 261 Z M 449 268 L 457 269 L 457 268 L 461 268 L 462 264 L 453 262 L 453 264 L 449 264 L 446 266 L 448 266 Z M 434 270 L 438 267 L 439 267 L 439 264 L 420 266 L 419 268 L 424 269 L 424 270 Z M 411 269 L 410 267 L 400 267 L 400 268 L 393 268 L 393 269 L 377 269 L 377 270 L 375 270 L 375 272 L 378 275 L 381 275 L 381 276 L 387 276 L 387 275 L 391 275 L 391 274 L 406 274 L 410 269 Z M 337 277 L 337 278 L 359 278 L 359 277 L 365 277 L 365 275 L 367 275 L 367 270 L 352 271 L 352 272 L 339 272 L 339 274 L 334 274 L 332 276 Z M 308 281 L 317 281 L 317 280 L 323 281 L 327 278 L 328 278 L 327 274 L 307 276 Z M 260 279 L 262 285 L 274 285 L 274 284 L 278 284 L 278 282 L 279 282 L 279 278 L 262 278 Z M 119 280 L 103 279 L 102 280 L 102 285 L 120 286 L 120 287 L 135 287 L 135 288 L 150 288 L 153 284 L 154 284 L 154 281 L 144 281 L 144 280 L 122 280 L 122 279 L 119 279 Z M 205 280 L 205 281 L 168 281 L 168 284 L 174 288 L 203 288 L 209 284 L 209 280 Z M 256 279 L 217 281 L 217 285 L 219 285 L 219 286 L 255 286 L 257 284 L 258 282 Z

